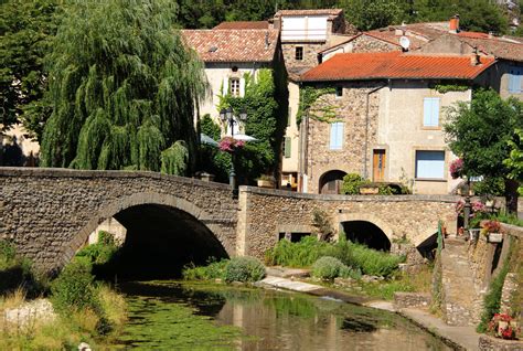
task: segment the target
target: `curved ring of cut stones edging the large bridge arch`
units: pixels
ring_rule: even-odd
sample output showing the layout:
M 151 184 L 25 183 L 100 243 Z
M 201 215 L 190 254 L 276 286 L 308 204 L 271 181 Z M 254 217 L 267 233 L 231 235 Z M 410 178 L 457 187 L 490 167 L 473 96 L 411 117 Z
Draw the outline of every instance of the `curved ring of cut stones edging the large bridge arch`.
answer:
M 234 255 L 234 243 L 224 242 L 224 238 L 226 238 L 227 235 L 223 233 L 223 230 L 217 224 L 209 223 L 212 222 L 213 217 L 207 212 L 186 201 L 185 199 L 163 193 L 140 192 L 117 198 L 98 209 L 98 211 L 93 215 L 87 224 L 84 225 L 78 234 L 71 241 L 65 249 L 64 255 L 62 256 L 60 266 L 65 265 L 73 258 L 76 252 L 88 240 L 89 234 L 94 232 L 103 221 L 115 216 L 121 211 L 138 205 L 163 205 L 189 214 L 213 234 L 214 238 L 223 246 L 224 251 L 230 256 Z

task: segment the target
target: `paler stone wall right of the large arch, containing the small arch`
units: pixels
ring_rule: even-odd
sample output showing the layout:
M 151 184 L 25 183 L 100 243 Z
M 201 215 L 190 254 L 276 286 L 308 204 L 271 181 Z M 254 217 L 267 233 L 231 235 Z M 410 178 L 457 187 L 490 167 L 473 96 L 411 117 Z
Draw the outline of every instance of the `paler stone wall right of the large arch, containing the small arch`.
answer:
M 405 236 L 419 245 L 437 232 L 439 220 L 456 227 L 456 200 L 449 195 L 314 195 L 241 187 L 237 252 L 263 258 L 279 233 L 311 231 L 314 209 L 329 213 L 337 230 L 342 222 L 369 221 L 391 241 Z

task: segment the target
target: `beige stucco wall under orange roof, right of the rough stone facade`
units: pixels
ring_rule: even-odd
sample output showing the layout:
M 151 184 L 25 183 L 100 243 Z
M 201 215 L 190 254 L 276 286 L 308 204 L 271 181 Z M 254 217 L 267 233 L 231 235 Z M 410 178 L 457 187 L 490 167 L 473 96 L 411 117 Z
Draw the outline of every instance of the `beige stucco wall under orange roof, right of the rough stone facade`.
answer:
M 424 127 L 424 98 L 440 98 L 439 127 Z M 471 91 L 440 94 L 428 87 L 428 83 L 392 82 L 380 91 L 380 114 L 377 140 L 373 148 L 386 150 L 385 179 L 399 182 L 408 180 L 415 193 L 445 194 L 450 192 L 458 180 L 448 172 L 449 163 L 456 156 L 445 142 L 446 110 L 459 100 L 470 100 Z M 415 178 L 416 150 L 445 150 L 445 179 L 441 181 Z

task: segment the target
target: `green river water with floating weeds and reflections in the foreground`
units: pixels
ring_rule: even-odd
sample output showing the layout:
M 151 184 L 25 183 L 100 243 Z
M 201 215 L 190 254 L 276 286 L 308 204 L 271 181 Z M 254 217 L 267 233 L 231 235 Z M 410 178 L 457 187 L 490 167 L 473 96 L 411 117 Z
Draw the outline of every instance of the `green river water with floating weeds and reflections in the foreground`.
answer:
M 452 350 L 397 315 L 296 292 L 181 281 L 120 290 L 121 349 Z

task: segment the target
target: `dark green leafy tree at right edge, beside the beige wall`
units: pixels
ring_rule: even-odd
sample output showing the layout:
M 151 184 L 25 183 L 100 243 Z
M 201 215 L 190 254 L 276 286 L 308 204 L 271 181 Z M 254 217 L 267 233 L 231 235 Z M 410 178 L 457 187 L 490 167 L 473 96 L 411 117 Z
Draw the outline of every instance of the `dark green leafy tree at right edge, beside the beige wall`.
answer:
M 503 160 L 510 157 L 516 129 L 523 128 L 523 103 L 516 98 L 503 100 L 492 89 L 480 89 L 471 103 L 461 102 L 450 108 L 447 117 L 447 142 L 463 160 L 465 174 L 504 179 L 508 205 L 513 206 L 517 187 L 510 182 L 511 168 Z

